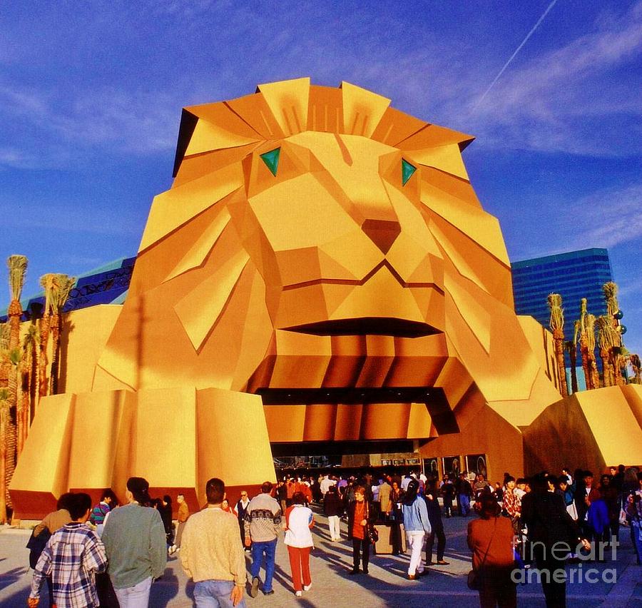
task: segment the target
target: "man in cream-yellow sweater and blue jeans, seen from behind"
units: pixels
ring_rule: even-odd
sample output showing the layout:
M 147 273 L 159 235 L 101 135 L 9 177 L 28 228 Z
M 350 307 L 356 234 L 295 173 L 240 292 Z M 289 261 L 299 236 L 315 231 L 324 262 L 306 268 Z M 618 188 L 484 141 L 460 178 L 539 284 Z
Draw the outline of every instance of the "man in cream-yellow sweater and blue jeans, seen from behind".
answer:
M 225 483 L 217 478 L 205 485 L 208 506 L 185 523 L 180 542 L 180 563 L 196 583 L 197 608 L 217 605 L 245 608 L 245 557 L 238 521 L 221 509 Z

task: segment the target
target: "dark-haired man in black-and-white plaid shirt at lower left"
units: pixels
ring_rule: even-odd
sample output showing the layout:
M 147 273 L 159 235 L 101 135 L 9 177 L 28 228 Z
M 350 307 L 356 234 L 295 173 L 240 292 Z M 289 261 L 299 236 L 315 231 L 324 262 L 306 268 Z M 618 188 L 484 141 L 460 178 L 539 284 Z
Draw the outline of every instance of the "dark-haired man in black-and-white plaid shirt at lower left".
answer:
M 96 532 L 85 525 L 91 497 L 74 494 L 69 502 L 72 521 L 53 534 L 40 555 L 31 582 L 29 608 L 38 606 L 40 588 L 48 576 L 53 581 L 56 608 L 98 606 L 95 576 L 107 568 L 105 547 Z

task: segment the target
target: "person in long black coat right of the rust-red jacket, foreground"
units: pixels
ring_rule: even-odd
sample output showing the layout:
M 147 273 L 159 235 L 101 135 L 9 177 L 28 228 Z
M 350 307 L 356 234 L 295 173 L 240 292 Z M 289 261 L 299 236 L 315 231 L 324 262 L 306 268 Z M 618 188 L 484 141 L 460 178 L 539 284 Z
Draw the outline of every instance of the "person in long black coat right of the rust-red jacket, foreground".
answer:
M 541 587 L 549 608 L 566 606 L 566 554 L 575 552 L 581 543 L 579 527 L 566 511 L 564 498 L 549 492 L 544 475 L 536 475 L 532 491 L 521 499 L 521 520 L 529 530 L 532 555 L 541 574 Z M 565 547 L 566 545 L 566 547 Z

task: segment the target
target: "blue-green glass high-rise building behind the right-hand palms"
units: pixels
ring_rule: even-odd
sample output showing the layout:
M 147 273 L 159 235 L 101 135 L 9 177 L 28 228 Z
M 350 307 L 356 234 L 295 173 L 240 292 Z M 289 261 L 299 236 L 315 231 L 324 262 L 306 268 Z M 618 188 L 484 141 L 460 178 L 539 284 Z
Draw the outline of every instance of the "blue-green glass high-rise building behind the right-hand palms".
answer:
M 580 300 L 588 300 L 588 312 L 606 315 L 602 285 L 613 280 L 606 249 L 583 249 L 544 258 L 511 263 L 515 312 L 531 315 L 549 326 L 549 293 L 559 293 L 564 308 L 564 332 L 572 338 L 574 320 L 579 318 Z

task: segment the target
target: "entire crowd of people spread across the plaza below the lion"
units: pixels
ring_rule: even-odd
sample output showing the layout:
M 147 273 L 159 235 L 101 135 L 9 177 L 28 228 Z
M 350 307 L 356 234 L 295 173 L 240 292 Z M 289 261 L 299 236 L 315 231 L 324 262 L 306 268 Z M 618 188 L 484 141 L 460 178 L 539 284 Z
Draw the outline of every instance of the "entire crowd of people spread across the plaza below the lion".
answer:
M 376 478 L 291 475 L 276 485 L 263 483 L 251 498 L 242 490 L 232 504 L 224 482 L 213 478 L 205 486 L 207 504 L 200 511 L 190 515 L 185 496 L 176 497 L 175 525 L 171 497 L 152 499 L 142 477 L 128 480 L 122 506 L 112 490 L 105 490 L 93 507 L 88 495 L 67 493 L 30 539 L 34 577 L 29 606 L 39 604 L 46 583 L 50 603 L 58 608 L 147 607 L 151 584 L 163 575 L 172 554 L 178 554 L 195 583 L 197 607 L 243 606 L 248 579 L 244 552 L 251 556 L 250 597 L 260 590 L 274 593 L 276 547 L 283 530 L 292 590 L 302 597 L 312 588 L 311 507 L 325 512 L 330 542 L 342 540 L 342 521 L 347 522 L 350 574 L 369 574 L 371 547 L 379 542 L 379 531 L 388 530 L 389 552 L 409 553 L 409 580 L 427 574 L 428 565 L 448 565 L 442 517 L 477 513 L 467 540 L 482 607 L 516 606 L 514 570 L 531 563 L 549 572 L 541 579 L 547 606 L 564 606 L 565 583 L 554 572 L 564 571 L 566 563 L 579 559 L 578 552 L 595 546 L 595 559 L 606 559 L 605 549 L 617 539 L 620 525 L 630 527 L 641 563 L 642 472 L 613 468 L 597 485 L 586 470 L 570 475 L 564 469 L 559 476 L 542 472 L 530 479 L 505 473 L 494 485 L 484 475 L 449 477 L 438 480 L 419 472 Z M 561 542 L 568 550 L 551 550 Z

